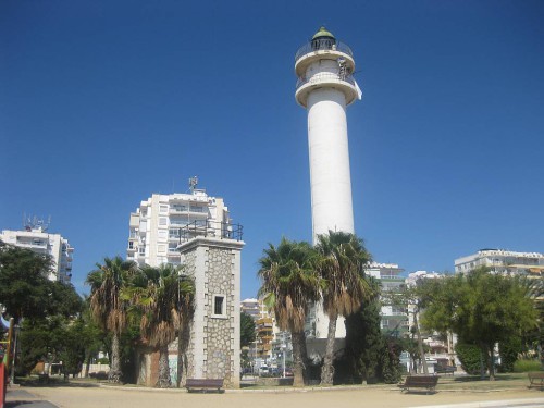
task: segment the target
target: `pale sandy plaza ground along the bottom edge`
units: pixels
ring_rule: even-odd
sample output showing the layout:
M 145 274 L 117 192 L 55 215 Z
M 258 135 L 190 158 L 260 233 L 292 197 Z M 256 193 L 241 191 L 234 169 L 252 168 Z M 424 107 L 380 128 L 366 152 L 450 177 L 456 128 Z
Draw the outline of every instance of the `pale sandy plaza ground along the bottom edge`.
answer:
M 351 408 L 351 407 L 544 407 L 539 390 L 496 392 L 440 391 L 403 394 L 393 387 L 334 390 L 227 391 L 187 393 L 114 386 L 44 386 L 9 390 L 7 408 Z

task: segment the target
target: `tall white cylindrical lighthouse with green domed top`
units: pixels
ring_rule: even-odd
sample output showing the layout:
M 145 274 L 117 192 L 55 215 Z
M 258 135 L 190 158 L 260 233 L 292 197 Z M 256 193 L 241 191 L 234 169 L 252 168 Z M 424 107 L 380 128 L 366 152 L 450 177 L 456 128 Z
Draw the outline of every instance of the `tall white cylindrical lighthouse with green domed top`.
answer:
M 321 27 L 295 55 L 297 102 L 308 109 L 313 243 L 329 231 L 354 233 L 346 107 L 361 98 L 345 44 Z

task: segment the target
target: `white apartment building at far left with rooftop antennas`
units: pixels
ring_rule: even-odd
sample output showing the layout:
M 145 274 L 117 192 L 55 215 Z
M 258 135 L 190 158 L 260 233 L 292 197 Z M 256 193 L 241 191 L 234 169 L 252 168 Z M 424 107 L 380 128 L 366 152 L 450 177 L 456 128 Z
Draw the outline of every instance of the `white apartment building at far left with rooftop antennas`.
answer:
M 35 219 L 28 222 L 23 231 L 4 230 L 0 239 L 33 252 L 49 255 L 53 260 L 53 268 L 48 279 L 70 283 L 74 248 L 62 235 L 47 232 L 47 225 L 42 221 Z

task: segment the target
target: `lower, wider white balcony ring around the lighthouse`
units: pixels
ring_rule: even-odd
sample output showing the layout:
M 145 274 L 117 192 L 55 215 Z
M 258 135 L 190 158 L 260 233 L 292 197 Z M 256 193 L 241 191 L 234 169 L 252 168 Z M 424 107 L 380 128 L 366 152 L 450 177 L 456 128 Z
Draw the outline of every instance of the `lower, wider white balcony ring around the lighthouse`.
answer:
M 321 72 L 309 78 L 298 78 L 295 97 L 297 102 L 306 108 L 308 95 L 322 87 L 336 88 L 346 96 L 346 106 L 360 99 L 360 89 L 351 75 L 339 75 L 332 72 Z

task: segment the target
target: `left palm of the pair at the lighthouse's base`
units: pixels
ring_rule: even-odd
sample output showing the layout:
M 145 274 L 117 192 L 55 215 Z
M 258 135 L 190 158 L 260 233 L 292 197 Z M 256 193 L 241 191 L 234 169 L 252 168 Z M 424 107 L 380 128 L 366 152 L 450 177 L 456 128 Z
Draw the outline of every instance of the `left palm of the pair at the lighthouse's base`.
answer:
M 314 269 L 316 252 L 308 243 L 282 238 L 280 245 L 269 244 L 259 260 L 262 286 L 259 295 L 274 311 L 281 330 L 293 338 L 294 382 L 304 385 L 306 355 L 305 319 L 308 305 L 320 299 L 321 283 Z

